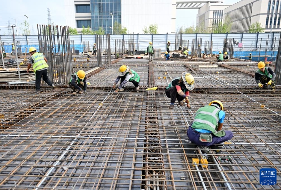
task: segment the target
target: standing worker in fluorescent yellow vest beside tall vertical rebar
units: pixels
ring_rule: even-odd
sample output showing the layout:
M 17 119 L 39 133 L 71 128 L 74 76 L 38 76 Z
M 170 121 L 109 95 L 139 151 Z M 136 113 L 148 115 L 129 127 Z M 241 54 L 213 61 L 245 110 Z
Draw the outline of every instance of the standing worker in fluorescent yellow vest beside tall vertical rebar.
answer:
M 29 53 L 31 57 L 29 58 L 26 72 L 29 73 L 31 64 L 33 64 L 33 71 L 35 73 L 35 89 L 40 90 L 41 77 L 49 86 L 52 86 L 51 89 L 55 88 L 55 85 L 50 81 L 48 77 L 49 66 L 44 54 L 37 52 L 35 47 L 30 47 Z

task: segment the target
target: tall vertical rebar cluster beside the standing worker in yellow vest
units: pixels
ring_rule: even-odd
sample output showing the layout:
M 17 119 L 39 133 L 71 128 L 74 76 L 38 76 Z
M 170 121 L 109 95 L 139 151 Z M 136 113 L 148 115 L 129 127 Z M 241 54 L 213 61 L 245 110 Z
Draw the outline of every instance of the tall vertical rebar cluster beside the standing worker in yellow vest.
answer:
M 48 60 L 48 76 L 57 85 L 68 85 L 72 72 L 68 26 L 37 25 L 39 52 Z

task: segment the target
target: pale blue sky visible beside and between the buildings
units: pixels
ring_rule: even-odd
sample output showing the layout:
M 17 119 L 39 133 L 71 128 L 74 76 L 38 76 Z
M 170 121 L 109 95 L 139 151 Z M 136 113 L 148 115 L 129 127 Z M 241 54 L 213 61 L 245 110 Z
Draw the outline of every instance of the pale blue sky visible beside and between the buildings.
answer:
M 73 0 L 4 0 L 1 1 L 0 7 L 0 35 L 8 35 L 8 28 L 1 26 L 8 26 L 17 24 L 19 27 L 24 20 L 29 21 L 31 34 L 37 35 L 37 24 L 48 24 L 47 8 L 50 9 L 52 23 L 55 25 L 65 25 L 65 9 L 64 1 Z M 234 4 L 241 0 L 224 0 L 223 4 Z M 196 25 L 197 9 L 176 10 L 176 30 L 179 27 L 186 28 L 188 26 Z M 24 16 L 26 15 L 27 18 Z M 16 29 L 15 29 L 16 30 Z M 18 34 L 21 30 L 17 28 Z M 16 31 L 15 31 L 16 33 Z

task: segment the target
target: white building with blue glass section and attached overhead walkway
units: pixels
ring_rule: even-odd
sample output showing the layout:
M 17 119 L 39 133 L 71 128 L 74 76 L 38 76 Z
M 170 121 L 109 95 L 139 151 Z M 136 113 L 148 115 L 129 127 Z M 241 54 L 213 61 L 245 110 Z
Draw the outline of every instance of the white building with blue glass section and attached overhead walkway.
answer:
M 129 34 L 143 34 L 149 25 L 157 25 L 158 34 L 176 33 L 176 9 L 199 9 L 206 0 L 65 0 L 66 22 L 77 31 L 102 27 L 112 34 L 114 22 L 126 27 Z M 188 10 L 187 10 L 188 13 Z M 222 15 L 222 13 L 221 13 Z M 187 18 L 188 19 L 188 18 Z

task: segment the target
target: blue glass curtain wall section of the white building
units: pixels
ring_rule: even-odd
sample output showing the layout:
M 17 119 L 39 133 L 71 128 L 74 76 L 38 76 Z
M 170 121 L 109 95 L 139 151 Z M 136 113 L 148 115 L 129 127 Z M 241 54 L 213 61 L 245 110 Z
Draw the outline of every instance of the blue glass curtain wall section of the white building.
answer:
M 121 23 L 121 0 L 90 0 L 91 28 L 99 30 L 102 27 L 105 33 L 112 33 L 112 16 L 114 22 Z

